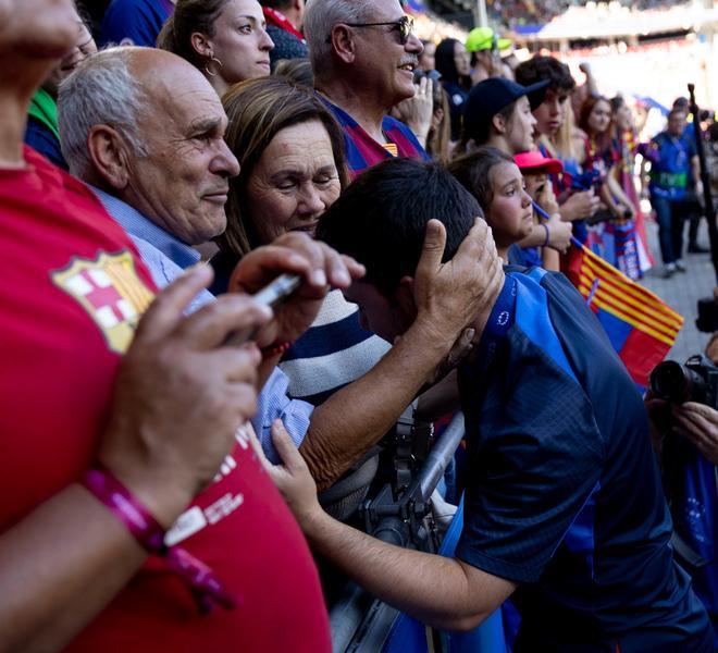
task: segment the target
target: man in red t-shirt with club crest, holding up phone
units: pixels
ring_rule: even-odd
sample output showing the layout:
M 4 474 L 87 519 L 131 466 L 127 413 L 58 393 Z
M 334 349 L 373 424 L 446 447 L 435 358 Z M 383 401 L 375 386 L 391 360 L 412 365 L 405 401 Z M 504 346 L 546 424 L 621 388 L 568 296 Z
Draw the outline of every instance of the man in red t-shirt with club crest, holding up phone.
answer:
M 260 345 L 292 340 L 325 294 L 312 275 L 345 286 L 360 268 L 293 234 L 235 273 L 248 292 L 300 273 L 282 320 L 238 294 L 185 318 L 207 268 L 153 300 L 95 196 L 23 150 L 29 98 L 75 33 L 70 0 L 0 0 L 0 650 L 327 651 L 306 542 L 239 429 L 276 347 L 224 343 L 257 326 Z M 88 468 L 124 490 L 86 489 Z M 151 525 L 125 526 L 127 504 L 200 560 L 195 587 L 219 578 L 236 607 L 200 614 L 170 558 L 140 545 Z

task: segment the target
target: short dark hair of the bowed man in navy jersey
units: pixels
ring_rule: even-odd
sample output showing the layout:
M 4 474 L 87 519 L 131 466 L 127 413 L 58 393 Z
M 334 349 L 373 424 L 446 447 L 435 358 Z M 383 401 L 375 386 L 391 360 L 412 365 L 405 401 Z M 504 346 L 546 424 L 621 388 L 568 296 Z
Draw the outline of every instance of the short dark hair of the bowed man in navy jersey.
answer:
M 320 219 L 317 237 L 366 266 L 364 281 L 391 297 L 416 273 L 429 220 L 446 226 L 447 261 L 476 217 L 479 204 L 444 165 L 392 159 L 349 185 Z

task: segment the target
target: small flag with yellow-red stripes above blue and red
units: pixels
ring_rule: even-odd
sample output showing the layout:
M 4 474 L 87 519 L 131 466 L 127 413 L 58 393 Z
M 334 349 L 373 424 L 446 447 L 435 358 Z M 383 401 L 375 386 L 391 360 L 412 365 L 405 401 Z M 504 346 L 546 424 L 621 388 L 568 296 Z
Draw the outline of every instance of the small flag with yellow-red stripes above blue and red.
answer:
M 596 313 L 633 382 L 646 387 L 648 373 L 673 346 L 683 317 L 578 242 L 564 272 Z

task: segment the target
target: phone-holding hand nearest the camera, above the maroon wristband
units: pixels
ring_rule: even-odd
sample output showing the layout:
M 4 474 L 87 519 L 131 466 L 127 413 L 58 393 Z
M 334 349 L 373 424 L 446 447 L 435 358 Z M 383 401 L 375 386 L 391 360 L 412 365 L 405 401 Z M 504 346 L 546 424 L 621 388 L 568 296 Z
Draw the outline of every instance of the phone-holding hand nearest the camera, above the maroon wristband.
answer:
M 236 329 L 267 323 L 271 310 L 235 294 L 185 317 L 187 304 L 211 279 L 208 267 L 191 269 L 140 320 L 98 452 L 102 465 L 165 527 L 211 481 L 256 409 L 257 347 L 222 343 Z

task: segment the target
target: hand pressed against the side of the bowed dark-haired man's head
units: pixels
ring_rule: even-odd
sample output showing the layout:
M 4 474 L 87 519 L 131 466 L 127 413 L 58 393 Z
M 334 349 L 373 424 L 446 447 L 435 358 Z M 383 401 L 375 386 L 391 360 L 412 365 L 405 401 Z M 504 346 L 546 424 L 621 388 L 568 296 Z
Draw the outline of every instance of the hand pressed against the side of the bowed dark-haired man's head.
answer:
M 472 326 L 476 330 L 475 341 L 504 287 L 502 259 L 491 227 L 481 219 L 476 219 L 454 258 L 443 263 L 445 245 L 444 225 L 430 220 L 414 278 L 417 324 L 450 343 Z

